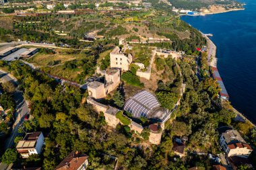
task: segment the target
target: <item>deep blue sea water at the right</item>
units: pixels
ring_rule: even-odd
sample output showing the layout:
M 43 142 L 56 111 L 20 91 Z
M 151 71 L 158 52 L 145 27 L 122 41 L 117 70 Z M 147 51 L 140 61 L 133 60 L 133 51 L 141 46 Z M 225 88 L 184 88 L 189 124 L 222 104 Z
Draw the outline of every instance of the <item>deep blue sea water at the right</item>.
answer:
M 183 16 L 217 46 L 218 70 L 234 108 L 256 123 L 256 1 L 245 10 L 205 16 Z

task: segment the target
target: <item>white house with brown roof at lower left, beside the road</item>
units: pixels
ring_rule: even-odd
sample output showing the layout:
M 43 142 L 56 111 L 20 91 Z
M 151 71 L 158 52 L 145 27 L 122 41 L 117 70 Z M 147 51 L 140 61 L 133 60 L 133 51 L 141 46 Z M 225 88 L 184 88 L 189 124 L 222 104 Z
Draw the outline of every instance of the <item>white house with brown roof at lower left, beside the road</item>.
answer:
M 33 154 L 40 154 L 44 144 L 44 135 L 42 132 L 27 133 L 23 140 L 20 140 L 16 149 L 22 158 L 28 158 Z

